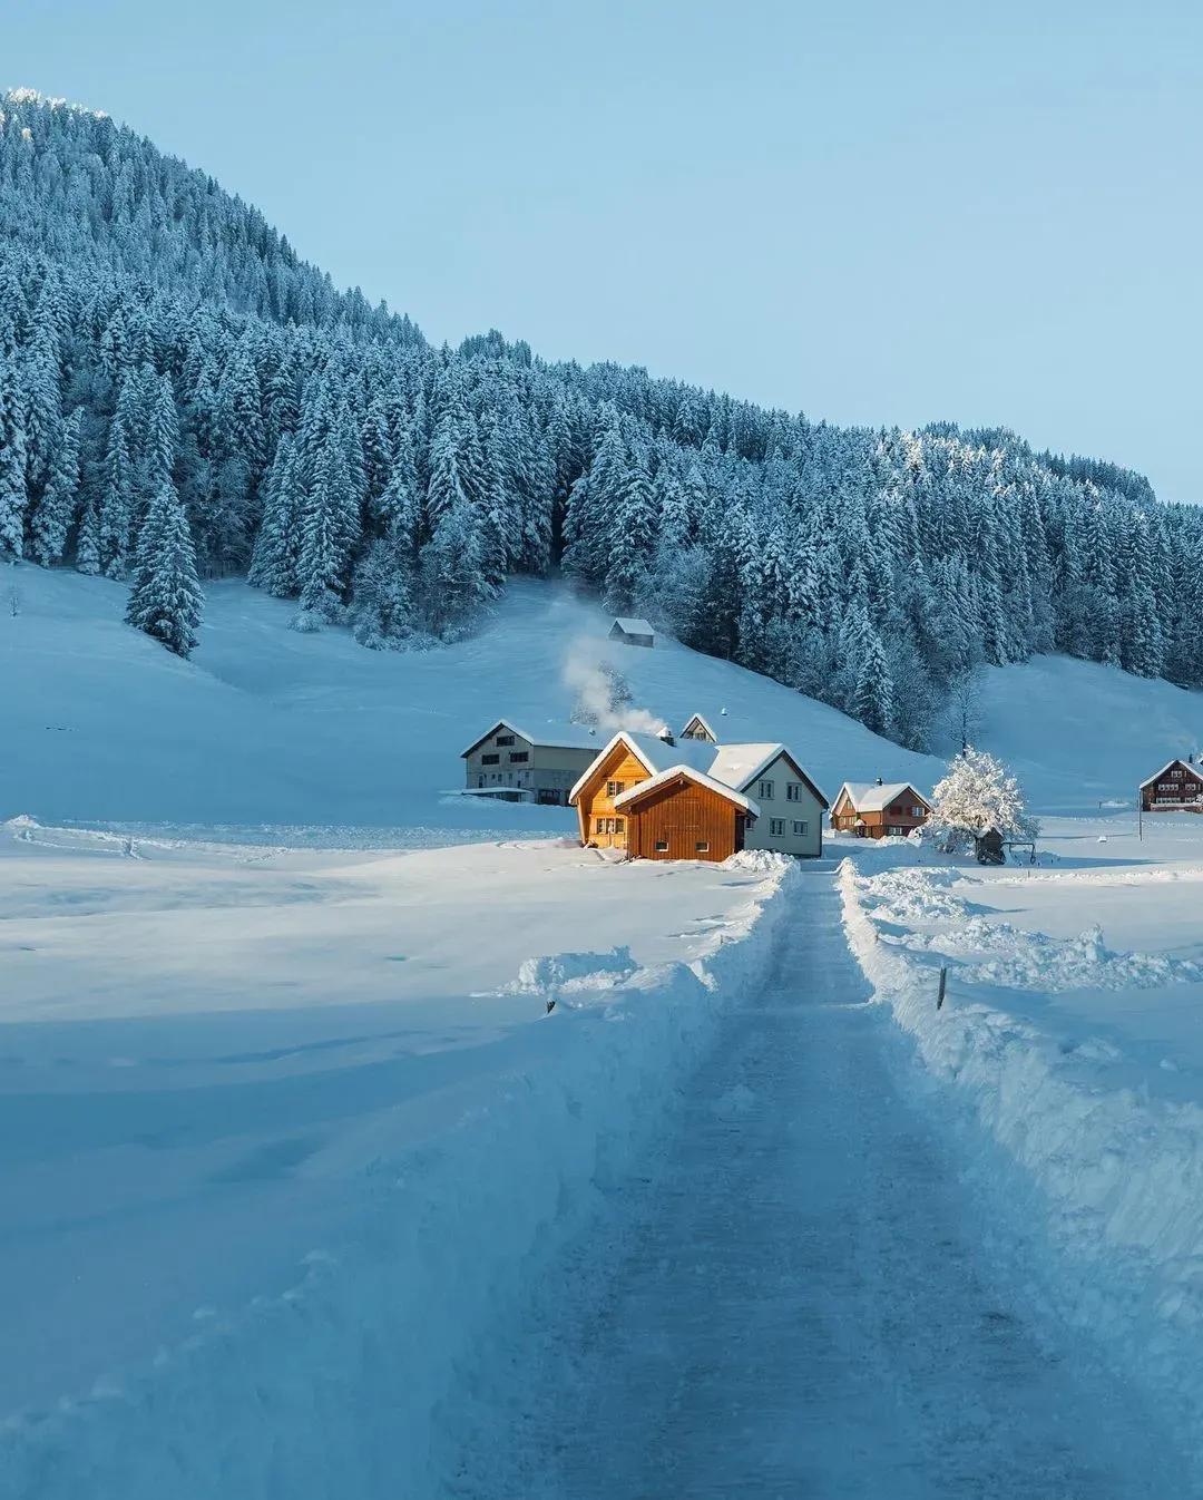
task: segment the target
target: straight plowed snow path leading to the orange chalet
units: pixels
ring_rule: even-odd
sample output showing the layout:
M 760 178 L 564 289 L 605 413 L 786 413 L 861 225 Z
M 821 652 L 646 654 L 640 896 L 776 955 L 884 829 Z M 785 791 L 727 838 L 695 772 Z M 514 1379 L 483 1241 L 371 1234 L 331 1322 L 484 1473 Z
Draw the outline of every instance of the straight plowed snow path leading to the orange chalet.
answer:
M 648 1179 L 544 1292 L 504 1394 L 477 1392 L 508 1448 L 458 1492 L 1190 1492 L 1140 1404 L 1026 1305 L 1022 1266 L 992 1263 L 934 1106 L 898 1086 L 904 1041 L 861 1004 L 830 878 L 806 884 Z

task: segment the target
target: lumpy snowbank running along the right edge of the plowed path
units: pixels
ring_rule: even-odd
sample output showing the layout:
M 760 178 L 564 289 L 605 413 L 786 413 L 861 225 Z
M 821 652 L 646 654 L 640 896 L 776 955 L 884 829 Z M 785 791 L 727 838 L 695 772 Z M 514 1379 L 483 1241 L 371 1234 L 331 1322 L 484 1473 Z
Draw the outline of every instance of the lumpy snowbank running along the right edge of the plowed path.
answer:
M 1190 1444 L 1203 1430 L 1203 1108 L 1150 1096 L 1108 1041 L 1053 1035 L 1004 1011 L 982 984 L 1036 986 L 1044 962 L 1046 990 L 1142 986 L 1162 982 L 1166 970 L 1160 978 L 1154 970 L 1168 960 L 1108 954 L 1094 934 L 1056 944 L 1010 930 L 1010 939 L 1032 942 L 1011 940 L 1006 962 L 957 968 L 938 1011 L 942 956 L 982 940 L 948 891 L 957 878 L 942 870 L 861 876 L 844 860 L 838 882 L 849 944 L 878 999 L 984 1130 L 984 1138 L 969 1137 L 970 1149 L 981 1142 L 982 1173 L 994 1172 L 986 1155 L 998 1148 L 1018 1168 L 1004 1210 L 1047 1222 L 1058 1251 L 1047 1257 L 1047 1296 L 1058 1314 L 1089 1329 L 1116 1365 L 1136 1374 Z M 939 939 L 898 927 L 932 918 L 942 924 Z M 950 930 L 952 922 L 960 926 Z M 992 940 L 1004 942 L 999 928 Z

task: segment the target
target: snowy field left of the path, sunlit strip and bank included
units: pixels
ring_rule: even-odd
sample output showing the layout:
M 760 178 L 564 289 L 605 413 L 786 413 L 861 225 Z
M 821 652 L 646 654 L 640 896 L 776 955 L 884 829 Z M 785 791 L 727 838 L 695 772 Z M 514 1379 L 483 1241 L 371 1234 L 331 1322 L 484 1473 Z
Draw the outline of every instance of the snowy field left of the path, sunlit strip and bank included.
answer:
M 754 981 L 730 940 L 788 872 L 124 849 L 0 842 L 0 1492 L 366 1485 L 399 1425 L 417 1474 L 454 1362 Z

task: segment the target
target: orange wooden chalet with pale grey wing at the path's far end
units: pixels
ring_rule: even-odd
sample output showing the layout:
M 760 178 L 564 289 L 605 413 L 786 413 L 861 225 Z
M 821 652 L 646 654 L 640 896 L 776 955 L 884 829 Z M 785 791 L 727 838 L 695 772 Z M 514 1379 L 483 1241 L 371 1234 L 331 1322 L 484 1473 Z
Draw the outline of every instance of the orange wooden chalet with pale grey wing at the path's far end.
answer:
M 621 730 L 568 801 L 582 844 L 633 858 L 718 861 L 746 848 L 822 854 L 826 800 L 782 744 L 676 742 Z M 762 816 L 770 801 L 784 804 L 780 818 Z

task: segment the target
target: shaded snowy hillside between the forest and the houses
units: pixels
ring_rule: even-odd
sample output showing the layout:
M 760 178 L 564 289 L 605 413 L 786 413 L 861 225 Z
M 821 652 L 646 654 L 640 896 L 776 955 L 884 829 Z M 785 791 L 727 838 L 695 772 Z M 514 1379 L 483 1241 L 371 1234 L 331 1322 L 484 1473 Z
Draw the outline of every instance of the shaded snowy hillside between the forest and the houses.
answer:
M 567 832 L 567 812 L 442 794 L 462 786 L 476 734 L 501 716 L 532 732 L 566 722 L 603 658 L 674 729 L 700 711 L 732 740 L 784 740 L 830 798 L 843 780 L 930 788 L 939 774 L 938 759 L 728 662 L 663 638 L 614 646 L 600 609 L 550 584 L 513 585 L 477 638 L 430 652 L 297 634 L 290 604 L 212 585 L 190 662 L 122 622 L 118 584 L 36 567 L 4 584 L 20 614 L 0 614 L 3 816 L 344 826 L 393 843 Z M 988 674 L 981 740 L 1014 760 L 1038 810 L 1131 806 L 1137 782 L 1203 742 L 1203 694 L 1038 657 Z

